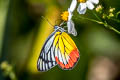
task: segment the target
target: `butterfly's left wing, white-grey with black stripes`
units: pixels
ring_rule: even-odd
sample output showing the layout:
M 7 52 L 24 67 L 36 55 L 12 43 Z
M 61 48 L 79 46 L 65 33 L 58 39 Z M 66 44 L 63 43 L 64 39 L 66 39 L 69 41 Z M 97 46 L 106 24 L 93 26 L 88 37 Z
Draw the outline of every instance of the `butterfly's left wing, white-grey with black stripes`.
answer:
M 37 69 L 39 71 L 47 71 L 57 65 L 54 55 L 55 47 L 53 46 L 54 39 L 57 36 L 55 34 L 56 32 L 53 32 L 43 45 L 37 61 Z

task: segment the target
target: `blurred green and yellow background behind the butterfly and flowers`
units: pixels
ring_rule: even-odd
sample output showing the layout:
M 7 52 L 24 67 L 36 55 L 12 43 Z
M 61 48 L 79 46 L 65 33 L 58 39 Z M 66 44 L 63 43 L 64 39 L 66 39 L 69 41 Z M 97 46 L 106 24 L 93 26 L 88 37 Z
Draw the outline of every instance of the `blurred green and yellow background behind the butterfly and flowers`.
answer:
M 48 72 L 37 71 L 37 59 L 44 41 L 59 25 L 60 14 L 71 0 L 0 0 L 0 80 L 120 80 L 120 35 L 103 25 L 81 19 L 96 19 L 93 11 L 75 12 L 73 21 L 78 32 L 70 35 L 80 51 L 73 70 L 58 66 Z M 107 10 L 120 11 L 120 0 L 100 0 Z M 77 16 L 77 17 L 75 17 Z M 120 24 L 110 21 L 120 31 Z

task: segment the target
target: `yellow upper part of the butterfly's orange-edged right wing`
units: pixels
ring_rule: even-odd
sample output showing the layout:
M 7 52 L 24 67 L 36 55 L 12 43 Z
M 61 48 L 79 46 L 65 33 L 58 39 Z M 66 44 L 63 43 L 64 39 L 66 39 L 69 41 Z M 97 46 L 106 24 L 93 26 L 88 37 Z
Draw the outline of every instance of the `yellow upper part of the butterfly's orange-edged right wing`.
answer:
M 59 47 L 62 54 L 66 52 L 67 55 L 69 55 L 71 51 L 77 48 L 74 41 L 65 32 L 62 32 L 62 34 L 60 34 L 60 32 L 55 33 L 53 45 L 56 46 L 56 49 Z

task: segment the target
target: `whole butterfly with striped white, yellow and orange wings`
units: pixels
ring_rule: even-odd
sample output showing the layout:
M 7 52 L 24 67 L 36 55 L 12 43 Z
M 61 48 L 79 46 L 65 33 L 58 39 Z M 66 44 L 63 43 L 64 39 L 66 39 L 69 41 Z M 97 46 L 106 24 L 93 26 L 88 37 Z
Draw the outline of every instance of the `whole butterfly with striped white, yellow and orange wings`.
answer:
M 58 65 L 63 70 L 71 70 L 80 58 L 74 41 L 60 26 L 45 41 L 37 60 L 38 71 L 48 71 Z

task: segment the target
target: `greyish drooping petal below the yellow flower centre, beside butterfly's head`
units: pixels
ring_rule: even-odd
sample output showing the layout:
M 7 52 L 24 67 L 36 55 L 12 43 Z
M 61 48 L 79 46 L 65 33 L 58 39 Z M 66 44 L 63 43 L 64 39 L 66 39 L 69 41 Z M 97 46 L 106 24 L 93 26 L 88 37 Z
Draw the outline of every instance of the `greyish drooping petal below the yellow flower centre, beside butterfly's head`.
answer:
M 75 25 L 72 20 L 67 22 L 67 27 L 68 27 L 69 34 L 73 34 L 74 36 L 77 36 L 77 31 L 75 29 Z

